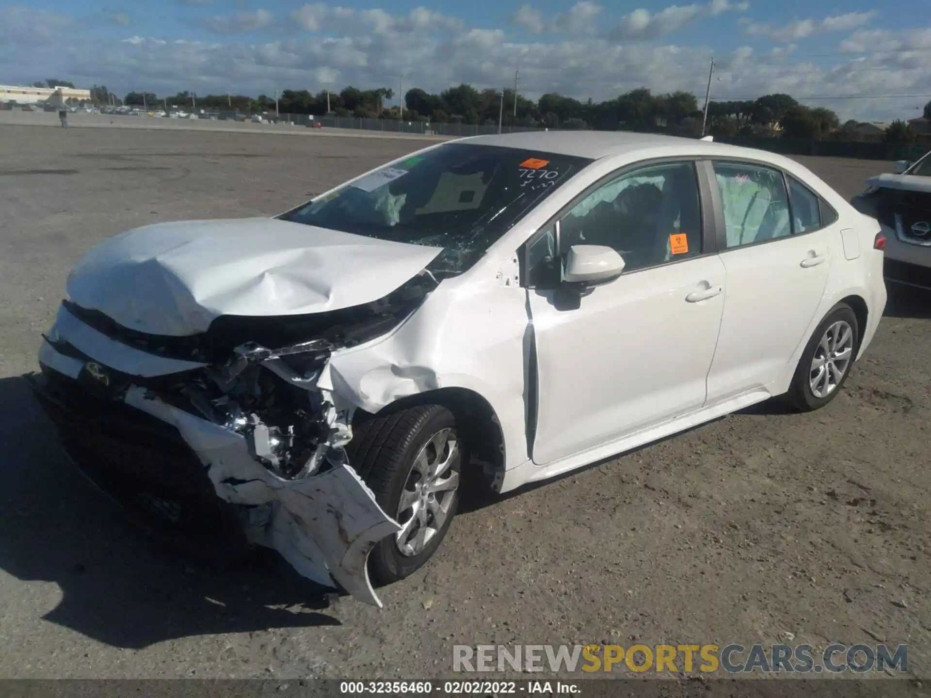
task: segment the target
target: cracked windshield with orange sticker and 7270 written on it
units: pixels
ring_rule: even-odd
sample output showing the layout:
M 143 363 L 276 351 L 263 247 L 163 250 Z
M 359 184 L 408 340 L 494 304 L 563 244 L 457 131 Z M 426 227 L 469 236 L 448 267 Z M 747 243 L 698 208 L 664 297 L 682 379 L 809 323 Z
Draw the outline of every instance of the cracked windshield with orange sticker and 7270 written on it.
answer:
M 590 160 L 449 144 L 381 168 L 281 218 L 443 248 L 434 272 L 459 274 Z

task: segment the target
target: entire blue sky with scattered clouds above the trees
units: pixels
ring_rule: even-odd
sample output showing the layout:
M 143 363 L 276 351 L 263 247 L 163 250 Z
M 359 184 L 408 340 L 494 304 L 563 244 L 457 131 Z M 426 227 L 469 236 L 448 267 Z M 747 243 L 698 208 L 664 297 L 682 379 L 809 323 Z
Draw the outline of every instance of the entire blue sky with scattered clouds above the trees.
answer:
M 397 91 L 403 75 L 405 88 L 440 90 L 512 86 L 519 68 L 532 97 L 650 87 L 703 99 L 713 56 L 718 99 L 785 91 L 862 119 L 909 118 L 931 99 L 931 0 L 678 3 L 0 2 L 0 83 L 55 76 L 116 92 L 255 95 Z

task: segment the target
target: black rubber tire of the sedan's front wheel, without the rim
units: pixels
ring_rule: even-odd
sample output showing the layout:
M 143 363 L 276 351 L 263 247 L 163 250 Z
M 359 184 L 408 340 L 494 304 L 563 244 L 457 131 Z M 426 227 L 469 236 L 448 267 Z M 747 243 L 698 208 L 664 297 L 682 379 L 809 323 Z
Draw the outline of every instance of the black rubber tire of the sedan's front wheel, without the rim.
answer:
M 423 405 L 384 416 L 365 415 L 353 424 L 353 439 L 346 448 L 349 464 L 375 494 L 389 517 L 398 516 L 401 492 L 412 476 L 414 459 L 429 440 L 444 429 L 457 436 L 459 457 L 450 468 L 457 477 L 466 463 L 465 444 L 459 440 L 452 412 L 441 405 Z M 461 479 L 459 480 L 461 483 Z M 403 555 L 394 535 L 375 545 L 369 555 L 369 575 L 375 585 L 392 584 L 423 567 L 439 548 L 459 505 L 461 484 L 451 492 L 446 519 L 417 555 Z M 440 496 L 440 495 L 437 495 Z M 445 495 L 444 495 L 445 496 Z M 444 502 L 445 504 L 445 502 Z M 398 523 L 404 523 L 398 521 Z

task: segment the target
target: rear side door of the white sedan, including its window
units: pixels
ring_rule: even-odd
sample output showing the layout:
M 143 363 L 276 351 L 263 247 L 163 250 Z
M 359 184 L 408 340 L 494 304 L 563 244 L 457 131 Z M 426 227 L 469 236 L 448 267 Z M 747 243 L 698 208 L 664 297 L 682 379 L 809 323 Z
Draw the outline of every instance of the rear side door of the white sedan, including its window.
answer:
M 830 275 L 835 223 L 805 212 L 800 182 L 754 162 L 708 162 L 717 184 L 719 252 L 727 273 L 708 405 L 764 388 L 785 368 L 815 317 Z M 796 206 L 790 204 L 795 192 Z M 817 211 L 817 206 L 815 207 Z

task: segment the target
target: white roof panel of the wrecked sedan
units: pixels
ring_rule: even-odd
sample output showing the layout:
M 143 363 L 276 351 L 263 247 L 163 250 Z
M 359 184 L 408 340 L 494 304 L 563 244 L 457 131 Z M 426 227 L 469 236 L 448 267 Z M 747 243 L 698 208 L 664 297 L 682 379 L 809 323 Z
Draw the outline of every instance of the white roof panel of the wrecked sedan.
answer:
M 502 148 L 520 148 L 537 150 L 541 153 L 576 155 L 593 160 L 621 154 L 642 154 L 645 151 L 675 150 L 682 153 L 708 154 L 710 156 L 750 157 L 765 159 L 774 164 L 781 164 L 784 158 L 777 154 L 752 148 L 741 148 L 726 143 L 699 141 L 694 138 L 666 136 L 657 133 L 632 133 L 630 131 L 524 131 L 522 133 L 505 133 L 493 136 L 473 136 L 460 139 L 477 145 L 494 145 Z

